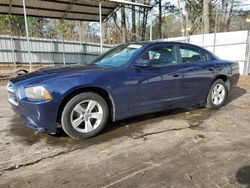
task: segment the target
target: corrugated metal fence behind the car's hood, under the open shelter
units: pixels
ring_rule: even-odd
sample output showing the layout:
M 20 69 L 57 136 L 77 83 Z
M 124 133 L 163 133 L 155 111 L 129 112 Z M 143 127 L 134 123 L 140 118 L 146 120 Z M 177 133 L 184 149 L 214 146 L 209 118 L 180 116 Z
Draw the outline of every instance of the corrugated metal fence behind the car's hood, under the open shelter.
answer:
M 64 44 L 64 45 L 63 45 Z M 104 46 L 103 51 L 110 47 Z M 100 54 L 98 44 L 62 41 L 55 39 L 30 38 L 31 57 L 34 64 L 88 63 Z M 64 58 L 63 58 L 64 56 Z M 29 63 L 25 37 L 0 35 L 0 64 Z

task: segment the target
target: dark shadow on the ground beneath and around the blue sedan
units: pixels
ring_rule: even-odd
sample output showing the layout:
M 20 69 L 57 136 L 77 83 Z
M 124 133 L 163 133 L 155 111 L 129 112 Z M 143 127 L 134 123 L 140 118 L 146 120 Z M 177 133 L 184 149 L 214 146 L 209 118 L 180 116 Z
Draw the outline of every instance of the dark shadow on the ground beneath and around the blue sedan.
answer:
M 247 91 L 243 88 L 233 88 L 229 94 L 227 104 L 241 97 L 245 93 L 247 93 Z M 21 119 L 15 115 L 11 122 L 11 134 L 22 137 L 22 140 L 28 145 L 32 145 L 42 139 L 45 139 L 46 142 L 51 145 L 73 145 L 83 144 L 83 142 L 84 144 L 92 145 L 117 137 L 130 136 L 135 132 L 141 132 L 148 124 L 158 123 L 164 119 L 170 118 L 184 119 L 190 124 L 191 128 L 198 128 L 203 121 L 208 119 L 215 112 L 216 110 L 214 109 L 194 106 L 141 115 L 118 122 L 110 122 L 100 135 L 90 139 L 72 139 L 62 130 L 62 128 L 59 128 L 55 135 L 49 135 L 47 133 L 35 135 L 34 131 L 27 128 L 24 123 L 21 122 Z

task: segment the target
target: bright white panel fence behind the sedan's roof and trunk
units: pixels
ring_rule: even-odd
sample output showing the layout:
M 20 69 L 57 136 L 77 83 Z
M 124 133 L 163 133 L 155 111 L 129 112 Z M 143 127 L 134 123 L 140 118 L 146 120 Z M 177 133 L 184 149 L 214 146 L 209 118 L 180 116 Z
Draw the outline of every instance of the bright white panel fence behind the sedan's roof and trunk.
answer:
M 185 37 L 168 38 L 164 40 L 185 42 Z M 203 46 L 222 59 L 237 61 L 241 74 L 250 73 L 250 40 L 248 31 L 191 35 L 189 36 L 189 43 Z

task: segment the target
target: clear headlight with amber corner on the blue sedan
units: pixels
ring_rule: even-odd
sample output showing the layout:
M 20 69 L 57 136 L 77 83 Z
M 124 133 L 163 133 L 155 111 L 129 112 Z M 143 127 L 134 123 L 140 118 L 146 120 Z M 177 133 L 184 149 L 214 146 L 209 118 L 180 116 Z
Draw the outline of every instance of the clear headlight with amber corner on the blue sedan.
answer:
M 42 86 L 27 87 L 24 89 L 26 97 L 31 100 L 50 100 L 52 96 L 48 90 Z

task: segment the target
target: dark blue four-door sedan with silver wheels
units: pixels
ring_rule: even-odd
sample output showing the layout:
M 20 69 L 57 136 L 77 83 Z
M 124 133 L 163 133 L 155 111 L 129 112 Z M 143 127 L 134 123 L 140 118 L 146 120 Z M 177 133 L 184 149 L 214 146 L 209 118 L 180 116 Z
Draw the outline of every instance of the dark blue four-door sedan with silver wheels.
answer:
M 219 108 L 239 80 L 237 63 L 177 42 L 120 45 L 88 65 L 40 69 L 8 83 L 27 126 L 71 137 L 100 133 L 109 120 L 188 105 Z

